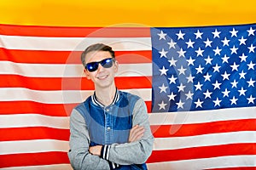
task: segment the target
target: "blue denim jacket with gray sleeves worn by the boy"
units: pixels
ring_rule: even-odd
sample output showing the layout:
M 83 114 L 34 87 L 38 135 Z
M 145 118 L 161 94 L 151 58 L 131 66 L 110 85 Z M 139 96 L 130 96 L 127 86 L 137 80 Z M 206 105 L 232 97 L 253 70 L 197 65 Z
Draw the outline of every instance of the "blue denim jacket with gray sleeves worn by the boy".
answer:
M 73 110 L 70 124 L 68 156 L 73 168 L 147 169 L 145 161 L 152 152 L 154 138 L 146 105 L 137 95 L 117 90 L 113 103 L 104 106 L 94 94 Z M 128 143 L 130 129 L 137 124 L 145 128 L 144 136 Z M 80 146 L 79 141 L 85 144 Z M 88 152 L 97 144 L 102 145 L 100 157 Z

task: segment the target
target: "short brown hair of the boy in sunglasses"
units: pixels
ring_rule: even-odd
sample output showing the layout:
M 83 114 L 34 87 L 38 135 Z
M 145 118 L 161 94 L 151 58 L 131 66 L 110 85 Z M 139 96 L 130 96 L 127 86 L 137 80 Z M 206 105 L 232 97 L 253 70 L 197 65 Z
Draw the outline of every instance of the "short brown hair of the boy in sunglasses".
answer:
M 90 53 L 92 51 L 108 51 L 111 54 L 111 56 L 113 58 L 115 58 L 114 51 L 113 51 L 113 49 L 111 47 L 109 47 L 108 45 L 105 45 L 103 43 L 96 43 L 96 44 L 90 45 L 81 54 L 81 61 L 82 61 L 83 65 L 85 65 L 84 61 L 85 61 L 86 54 L 88 54 L 88 53 Z

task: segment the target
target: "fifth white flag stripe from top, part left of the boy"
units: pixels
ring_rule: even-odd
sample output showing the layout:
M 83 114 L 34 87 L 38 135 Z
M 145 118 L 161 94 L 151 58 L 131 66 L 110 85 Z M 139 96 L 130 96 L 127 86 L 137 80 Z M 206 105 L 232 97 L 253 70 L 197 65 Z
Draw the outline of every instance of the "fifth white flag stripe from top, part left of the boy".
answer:
M 0 142 L 0 155 L 69 150 L 68 141 L 55 139 L 18 140 Z

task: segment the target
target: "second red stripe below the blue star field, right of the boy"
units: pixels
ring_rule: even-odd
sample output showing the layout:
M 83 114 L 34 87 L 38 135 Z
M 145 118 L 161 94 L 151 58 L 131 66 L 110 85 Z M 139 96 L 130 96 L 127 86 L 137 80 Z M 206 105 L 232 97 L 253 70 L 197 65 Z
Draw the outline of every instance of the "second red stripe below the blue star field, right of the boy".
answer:
M 218 156 L 255 155 L 255 144 L 223 144 L 185 148 L 179 150 L 153 150 L 148 163 L 180 161 Z

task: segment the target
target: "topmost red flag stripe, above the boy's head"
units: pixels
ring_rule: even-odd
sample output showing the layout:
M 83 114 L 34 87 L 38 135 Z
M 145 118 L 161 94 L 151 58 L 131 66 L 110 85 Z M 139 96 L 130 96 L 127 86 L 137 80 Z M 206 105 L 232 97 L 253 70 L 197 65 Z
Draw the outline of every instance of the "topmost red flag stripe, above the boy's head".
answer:
M 36 37 L 150 37 L 149 27 L 64 27 L 0 25 L 0 34 Z

